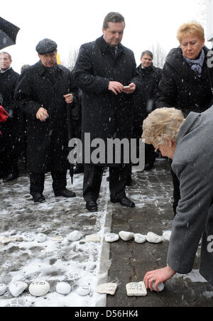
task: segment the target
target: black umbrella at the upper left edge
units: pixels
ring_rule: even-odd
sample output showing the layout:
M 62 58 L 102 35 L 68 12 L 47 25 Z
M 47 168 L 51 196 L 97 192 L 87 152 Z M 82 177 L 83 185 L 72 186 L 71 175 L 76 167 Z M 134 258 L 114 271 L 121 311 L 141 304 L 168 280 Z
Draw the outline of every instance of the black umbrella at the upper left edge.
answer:
M 0 17 L 0 50 L 9 45 L 15 45 L 19 30 L 20 28 L 14 26 L 13 23 Z

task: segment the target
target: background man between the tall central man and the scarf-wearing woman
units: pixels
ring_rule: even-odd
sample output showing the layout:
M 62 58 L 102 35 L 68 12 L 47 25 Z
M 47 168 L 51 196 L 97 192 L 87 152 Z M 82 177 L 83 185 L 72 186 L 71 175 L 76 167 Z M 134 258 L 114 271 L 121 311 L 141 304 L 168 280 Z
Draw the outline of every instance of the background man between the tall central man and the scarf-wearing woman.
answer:
M 155 109 L 155 99 L 162 70 L 153 65 L 153 53 L 149 50 L 141 54 L 141 65 L 138 66 L 141 80 L 141 90 L 133 95 L 133 138 L 139 140 L 142 136 L 143 120 Z M 145 145 L 145 168 L 151 170 L 155 163 L 156 153 L 153 146 Z

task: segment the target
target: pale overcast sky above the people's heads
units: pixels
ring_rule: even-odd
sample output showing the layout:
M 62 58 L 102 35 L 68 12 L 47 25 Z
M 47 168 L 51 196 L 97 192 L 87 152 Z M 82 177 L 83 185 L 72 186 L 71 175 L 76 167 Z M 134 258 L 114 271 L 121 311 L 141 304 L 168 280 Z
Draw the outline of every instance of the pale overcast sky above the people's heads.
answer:
M 168 52 L 178 46 L 178 27 L 187 21 L 200 22 L 197 0 L 10 0 L 1 6 L 1 17 L 21 28 L 17 44 L 6 48 L 13 58 L 13 69 L 38 61 L 35 45 L 43 38 L 58 43 L 65 61 L 72 48 L 102 35 L 104 16 L 119 11 L 126 18 L 122 43 L 131 48 L 139 63 L 140 55 L 155 43 Z

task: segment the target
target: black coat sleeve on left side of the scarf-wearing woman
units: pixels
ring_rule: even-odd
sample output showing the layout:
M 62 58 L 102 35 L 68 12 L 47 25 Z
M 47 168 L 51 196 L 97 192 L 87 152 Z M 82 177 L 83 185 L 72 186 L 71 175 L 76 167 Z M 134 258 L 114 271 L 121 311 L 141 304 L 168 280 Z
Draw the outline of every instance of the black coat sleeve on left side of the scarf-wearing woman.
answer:
M 175 107 L 178 91 L 175 83 L 175 71 L 165 63 L 155 101 L 156 108 Z

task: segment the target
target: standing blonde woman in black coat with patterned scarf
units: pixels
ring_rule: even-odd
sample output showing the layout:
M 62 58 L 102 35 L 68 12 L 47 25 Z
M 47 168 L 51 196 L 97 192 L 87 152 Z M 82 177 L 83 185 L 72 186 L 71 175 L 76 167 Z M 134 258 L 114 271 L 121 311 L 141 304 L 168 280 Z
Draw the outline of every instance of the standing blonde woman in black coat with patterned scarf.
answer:
M 170 51 L 160 81 L 157 108 L 175 107 L 184 116 L 202 112 L 213 102 L 213 68 L 207 65 L 209 50 L 204 47 L 204 29 L 199 23 L 185 23 L 178 30 L 180 47 Z M 179 182 L 173 173 L 174 204 L 180 200 Z

